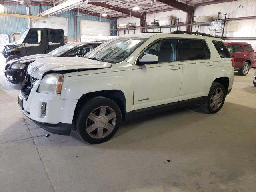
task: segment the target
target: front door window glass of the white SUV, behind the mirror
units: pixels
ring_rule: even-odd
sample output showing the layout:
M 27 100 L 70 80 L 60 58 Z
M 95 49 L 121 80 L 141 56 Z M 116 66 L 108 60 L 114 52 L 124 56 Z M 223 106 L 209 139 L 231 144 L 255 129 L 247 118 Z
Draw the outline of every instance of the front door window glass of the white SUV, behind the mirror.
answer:
M 147 54 L 158 56 L 159 63 L 176 61 L 176 40 L 163 39 L 155 42 L 139 56 L 139 60 Z

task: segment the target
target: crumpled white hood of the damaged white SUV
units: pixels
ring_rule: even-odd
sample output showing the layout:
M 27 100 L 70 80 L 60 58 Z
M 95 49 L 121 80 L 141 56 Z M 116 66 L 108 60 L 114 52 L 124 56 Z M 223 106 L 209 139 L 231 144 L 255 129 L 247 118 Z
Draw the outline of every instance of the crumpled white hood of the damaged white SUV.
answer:
M 28 73 L 37 79 L 42 79 L 46 72 L 68 70 L 90 70 L 110 68 L 111 64 L 81 57 L 50 57 L 39 58 L 28 66 Z

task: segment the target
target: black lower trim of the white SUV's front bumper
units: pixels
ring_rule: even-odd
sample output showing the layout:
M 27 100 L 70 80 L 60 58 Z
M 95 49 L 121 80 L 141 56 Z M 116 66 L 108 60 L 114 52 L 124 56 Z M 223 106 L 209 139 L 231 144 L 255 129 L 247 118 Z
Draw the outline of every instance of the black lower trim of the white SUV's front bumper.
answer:
M 58 134 L 58 135 L 70 135 L 72 124 L 69 124 L 69 123 L 49 124 L 49 123 L 38 122 L 33 119 L 31 120 L 34 121 L 35 124 L 43 128 L 44 130 L 49 131 L 51 133 Z

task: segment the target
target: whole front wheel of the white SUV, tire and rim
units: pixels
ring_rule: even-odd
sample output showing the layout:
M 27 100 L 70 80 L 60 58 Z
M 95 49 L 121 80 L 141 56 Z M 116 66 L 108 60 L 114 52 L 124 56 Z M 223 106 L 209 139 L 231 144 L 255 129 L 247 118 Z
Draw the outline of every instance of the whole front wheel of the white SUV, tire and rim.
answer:
M 108 120 L 110 114 L 111 119 Z M 106 142 L 116 134 L 121 117 L 121 110 L 114 101 L 106 97 L 94 97 L 81 108 L 75 121 L 76 133 L 90 144 Z

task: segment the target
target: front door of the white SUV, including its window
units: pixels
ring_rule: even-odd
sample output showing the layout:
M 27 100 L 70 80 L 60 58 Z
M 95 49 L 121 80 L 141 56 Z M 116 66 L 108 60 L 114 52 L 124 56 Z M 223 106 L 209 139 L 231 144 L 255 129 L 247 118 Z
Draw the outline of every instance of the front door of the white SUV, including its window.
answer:
M 134 67 L 133 110 L 167 104 L 176 106 L 182 79 L 182 64 L 176 61 L 176 40 L 163 39 L 149 46 L 146 54 L 158 56 L 158 64 Z

